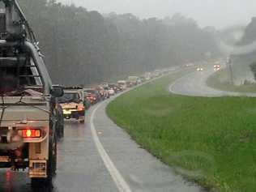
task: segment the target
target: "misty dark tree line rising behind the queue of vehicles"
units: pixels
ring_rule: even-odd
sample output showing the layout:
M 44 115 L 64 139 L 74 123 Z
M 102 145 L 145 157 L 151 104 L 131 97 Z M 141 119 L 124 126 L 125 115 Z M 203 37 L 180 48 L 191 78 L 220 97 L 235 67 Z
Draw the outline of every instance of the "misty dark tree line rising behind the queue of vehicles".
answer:
M 90 84 L 115 75 L 193 62 L 218 51 L 193 19 L 100 15 L 55 0 L 19 0 L 54 83 Z

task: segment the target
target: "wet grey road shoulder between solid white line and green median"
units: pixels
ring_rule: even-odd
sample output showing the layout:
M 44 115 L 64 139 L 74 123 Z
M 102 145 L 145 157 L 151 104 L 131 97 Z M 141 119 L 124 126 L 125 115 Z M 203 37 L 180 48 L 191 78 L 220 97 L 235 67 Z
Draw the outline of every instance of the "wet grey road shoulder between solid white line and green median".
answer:
M 130 189 L 134 192 L 203 191 L 177 176 L 169 166 L 139 147 L 124 130 L 107 117 L 105 108 L 114 98 L 105 101 L 97 109 L 94 126 L 100 143 L 105 147 L 105 151 Z

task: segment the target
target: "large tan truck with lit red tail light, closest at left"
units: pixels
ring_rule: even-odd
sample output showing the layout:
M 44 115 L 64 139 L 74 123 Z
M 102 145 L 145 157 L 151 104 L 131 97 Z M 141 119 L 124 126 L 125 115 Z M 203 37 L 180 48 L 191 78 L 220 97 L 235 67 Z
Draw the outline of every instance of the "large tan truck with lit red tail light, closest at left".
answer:
M 57 163 L 57 98 L 19 4 L 0 0 L 0 168 L 28 168 L 32 183 L 52 181 Z

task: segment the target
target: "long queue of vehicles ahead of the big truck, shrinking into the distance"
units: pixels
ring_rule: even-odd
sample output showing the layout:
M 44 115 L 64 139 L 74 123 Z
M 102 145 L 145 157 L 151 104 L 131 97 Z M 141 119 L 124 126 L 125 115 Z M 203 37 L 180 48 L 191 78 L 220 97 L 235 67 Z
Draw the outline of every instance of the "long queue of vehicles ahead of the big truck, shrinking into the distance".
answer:
M 165 72 L 166 70 L 155 70 L 140 76 L 129 76 L 126 80 L 118 80 L 117 83 L 104 82 L 92 87 L 65 87 L 64 95 L 58 99 L 58 107 L 62 109 L 62 118 L 84 123 L 85 114 L 92 105 L 107 100 L 119 92 L 124 92 L 128 88 L 160 77 Z

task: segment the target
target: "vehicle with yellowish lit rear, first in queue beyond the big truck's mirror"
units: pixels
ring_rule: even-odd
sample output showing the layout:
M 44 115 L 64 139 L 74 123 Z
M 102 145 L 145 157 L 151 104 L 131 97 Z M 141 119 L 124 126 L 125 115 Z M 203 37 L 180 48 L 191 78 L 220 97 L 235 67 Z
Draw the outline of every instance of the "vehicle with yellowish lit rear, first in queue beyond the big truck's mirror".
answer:
M 83 87 L 66 87 L 64 95 L 58 99 L 66 119 L 75 118 L 79 123 L 85 120 Z

